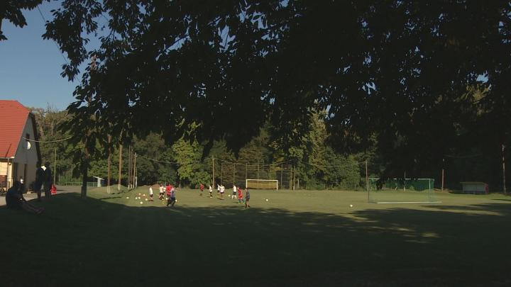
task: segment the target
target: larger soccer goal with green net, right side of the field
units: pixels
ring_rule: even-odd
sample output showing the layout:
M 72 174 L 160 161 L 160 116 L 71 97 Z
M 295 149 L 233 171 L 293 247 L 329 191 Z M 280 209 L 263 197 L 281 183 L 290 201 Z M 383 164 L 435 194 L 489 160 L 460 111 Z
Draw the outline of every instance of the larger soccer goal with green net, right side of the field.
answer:
M 370 203 L 441 203 L 433 192 L 434 179 L 369 178 Z

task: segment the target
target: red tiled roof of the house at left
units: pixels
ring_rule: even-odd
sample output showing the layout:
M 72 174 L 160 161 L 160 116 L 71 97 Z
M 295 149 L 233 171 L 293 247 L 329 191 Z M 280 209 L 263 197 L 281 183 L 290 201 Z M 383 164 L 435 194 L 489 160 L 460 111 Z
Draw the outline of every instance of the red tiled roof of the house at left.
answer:
M 0 157 L 16 154 L 28 113 L 18 101 L 0 100 Z

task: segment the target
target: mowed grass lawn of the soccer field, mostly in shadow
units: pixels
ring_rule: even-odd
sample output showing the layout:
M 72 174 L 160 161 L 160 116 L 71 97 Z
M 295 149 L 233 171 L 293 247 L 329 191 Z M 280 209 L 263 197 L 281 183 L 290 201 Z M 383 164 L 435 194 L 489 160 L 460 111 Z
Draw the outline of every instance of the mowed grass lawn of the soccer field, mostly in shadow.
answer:
M 510 197 L 253 190 L 245 209 L 180 189 L 166 208 L 155 192 L 60 194 L 43 215 L 0 208 L 0 286 L 511 285 Z

